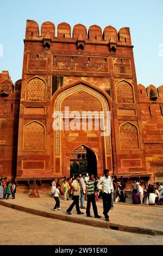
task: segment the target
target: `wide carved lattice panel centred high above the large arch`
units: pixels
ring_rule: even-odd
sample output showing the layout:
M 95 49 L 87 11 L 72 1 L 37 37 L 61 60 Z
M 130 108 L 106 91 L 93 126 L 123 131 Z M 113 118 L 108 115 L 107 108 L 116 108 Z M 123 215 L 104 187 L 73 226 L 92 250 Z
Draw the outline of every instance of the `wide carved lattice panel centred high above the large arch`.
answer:
M 108 72 L 105 57 L 53 55 L 53 70 Z

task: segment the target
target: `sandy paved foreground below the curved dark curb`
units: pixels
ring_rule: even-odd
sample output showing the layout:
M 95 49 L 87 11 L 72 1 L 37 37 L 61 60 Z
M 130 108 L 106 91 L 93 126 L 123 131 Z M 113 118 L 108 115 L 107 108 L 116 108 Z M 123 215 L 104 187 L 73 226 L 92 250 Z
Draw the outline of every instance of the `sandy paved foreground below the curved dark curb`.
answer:
M 17 200 L 20 197 L 17 194 Z M 47 197 L 46 205 L 39 200 L 30 198 L 30 204 L 32 202 L 35 205 L 37 202 L 37 206 L 52 209 L 53 199 Z M 162 235 L 150 236 L 90 227 L 27 214 L 2 205 L 0 212 L 0 227 L 3 231 L 0 245 L 163 245 Z

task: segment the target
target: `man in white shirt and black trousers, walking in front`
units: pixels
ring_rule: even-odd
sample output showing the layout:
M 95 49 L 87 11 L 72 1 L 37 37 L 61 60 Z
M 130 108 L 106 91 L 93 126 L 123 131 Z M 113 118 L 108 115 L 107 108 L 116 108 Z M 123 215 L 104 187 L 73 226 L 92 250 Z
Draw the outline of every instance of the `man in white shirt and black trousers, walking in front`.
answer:
M 102 189 L 99 187 L 102 185 Z M 97 188 L 102 192 L 103 198 L 103 214 L 105 216 L 106 221 L 109 221 L 108 212 L 111 208 L 111 195 L 114 193 L 114 187 L 112 185 L 111 177 L 109 176 L 109 170 L 104 170 L 104 176 L 102 176 L 97 184 Z

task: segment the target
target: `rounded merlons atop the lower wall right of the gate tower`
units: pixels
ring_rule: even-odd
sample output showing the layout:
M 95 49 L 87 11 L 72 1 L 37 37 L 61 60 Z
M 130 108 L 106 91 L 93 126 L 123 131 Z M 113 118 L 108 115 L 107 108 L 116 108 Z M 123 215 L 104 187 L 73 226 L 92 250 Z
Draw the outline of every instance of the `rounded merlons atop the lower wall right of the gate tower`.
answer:
M 138 92 L 140 100 L 163 100 L 163 85 L 156 88 L 153 84 L 149 84 L 146 88 L 142 84 L 138 84 Z

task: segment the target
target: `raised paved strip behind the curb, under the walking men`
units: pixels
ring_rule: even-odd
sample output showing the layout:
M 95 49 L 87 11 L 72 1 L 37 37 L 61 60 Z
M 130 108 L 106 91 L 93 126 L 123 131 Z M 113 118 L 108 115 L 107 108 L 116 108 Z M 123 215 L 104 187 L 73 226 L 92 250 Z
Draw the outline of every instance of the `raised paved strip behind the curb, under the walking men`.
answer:
M 16 193 L 16 199 L 3 200 L 7 203 L 12 203 L 16 205 L 25 206 L 27 208 L 32 208 L 36 210 L 45 211 L 51 214 L 59 214 L 66 216 L 66 209 L 72 203 L 72 200 L 64 201 L 60 198 L 61 210 L 52 211 L 55 201 L 50 197 L 47 192 L 41 191 L 40 198 L 29 198 L 28 193 Z M 86 202 L 85 202 L 86 205 Z M 105 222 L 103 212 L 102 200 L 97 202 L 98 214 L 102 216 L 101 219 L 90 218 L 91 220 L 99 221 L 100 223 Z M 85 210 L 82 209 L 85 213 Z M 91 214 L 93 215 L 92 208 Z M 67 215 L 68 217 L 82 218 L 88 220 L 86 215 L 77 215 L 76 208 L 73 208 L 72 215 Z M 110 222 L 127 225 L 130 227 L 146 228 L 163 231 L 163 206 L 152 206 L 152 205 L 132 205 L 132 204 L 122 204 L 115 203 L 114 210 L 109 212 Z M 70 224 L 70 223 L 68 223 Z

